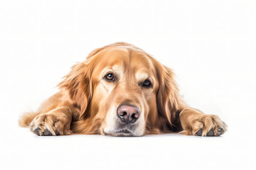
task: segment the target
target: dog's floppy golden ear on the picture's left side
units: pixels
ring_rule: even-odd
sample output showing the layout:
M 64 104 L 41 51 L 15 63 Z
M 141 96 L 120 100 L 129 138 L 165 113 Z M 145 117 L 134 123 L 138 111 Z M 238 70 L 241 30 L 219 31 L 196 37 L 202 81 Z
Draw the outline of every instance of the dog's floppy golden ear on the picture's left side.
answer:
M 67 100 L 69 99 L 72 105 L 80 110 L 81 118 L 92 96 L 90 70 L 86 61 L 75 64 L 57 86 L 67 92 Z

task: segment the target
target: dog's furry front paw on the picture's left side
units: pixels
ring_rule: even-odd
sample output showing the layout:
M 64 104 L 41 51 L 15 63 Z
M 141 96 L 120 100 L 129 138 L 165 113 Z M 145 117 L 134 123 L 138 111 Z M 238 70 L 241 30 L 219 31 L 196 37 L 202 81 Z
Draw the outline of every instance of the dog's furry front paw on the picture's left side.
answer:
M 30 129 L 38 136 L 69 135 L 72 112 L 62 106 L 47 113 L 37 115 L 30 123 Z

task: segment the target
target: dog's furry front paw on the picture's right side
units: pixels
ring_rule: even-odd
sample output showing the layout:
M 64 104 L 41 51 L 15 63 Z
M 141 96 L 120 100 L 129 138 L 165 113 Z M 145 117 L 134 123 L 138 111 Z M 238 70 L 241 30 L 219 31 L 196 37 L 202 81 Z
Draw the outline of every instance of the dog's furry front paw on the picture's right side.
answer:
M 216 115 L 207 115 L 200 110 L 187 108 L 181 111 L 180 121 L 185 135 L 220 136 L 227 125 Z

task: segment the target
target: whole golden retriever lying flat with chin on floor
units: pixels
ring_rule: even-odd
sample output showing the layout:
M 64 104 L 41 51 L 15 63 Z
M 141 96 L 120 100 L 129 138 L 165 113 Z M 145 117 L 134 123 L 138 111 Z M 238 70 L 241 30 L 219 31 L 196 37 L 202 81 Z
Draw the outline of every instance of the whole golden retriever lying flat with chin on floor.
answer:
M 92 51 L 58 87 L 36 112 L 24 114 L 19 125 L 38 136 L 220 136 L 227 127 L 218 116 L 187 106 L 172 69 L 125 42 Z

